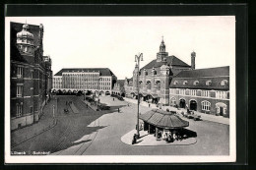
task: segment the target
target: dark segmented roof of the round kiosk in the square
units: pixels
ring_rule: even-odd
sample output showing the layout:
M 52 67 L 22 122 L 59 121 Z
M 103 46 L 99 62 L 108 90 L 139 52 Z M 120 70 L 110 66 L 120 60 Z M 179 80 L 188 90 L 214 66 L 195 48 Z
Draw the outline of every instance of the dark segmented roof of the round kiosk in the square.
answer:
M 159 109 L 153 109 L 145 114 L 141 114 L 140 119 L 158 128 L 164 129 L 176 129 L 189 126 L 189 122 L 184 121 L 174 114 L 174 112 L 166 112 Z

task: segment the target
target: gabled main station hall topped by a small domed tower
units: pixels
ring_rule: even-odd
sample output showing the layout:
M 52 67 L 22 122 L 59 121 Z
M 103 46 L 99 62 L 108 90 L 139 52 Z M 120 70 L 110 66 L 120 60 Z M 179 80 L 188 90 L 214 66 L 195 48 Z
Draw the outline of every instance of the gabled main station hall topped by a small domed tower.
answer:
M 138 97 L 139 88 L 143 101 L 168 105 L 169 83 L 172 77 L 179 72 L 195 68 L 195 56 L 191 56 L 191 58 L 192 66 L 189 66 L 173 55 L 168 56 L 162 39 L 157 59 L 144 66 L 140 71 L 136 65 L 133 78 L 125 80 L 126 95 L 132 94 L 133 97 Z

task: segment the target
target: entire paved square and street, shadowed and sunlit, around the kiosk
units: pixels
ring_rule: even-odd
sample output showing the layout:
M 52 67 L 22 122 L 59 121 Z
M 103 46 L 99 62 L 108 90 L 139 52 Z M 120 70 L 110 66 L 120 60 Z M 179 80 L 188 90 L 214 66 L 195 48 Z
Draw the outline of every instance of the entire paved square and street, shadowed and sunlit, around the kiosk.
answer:
M 58 96 L 57 125 L 23 142 L 15 151 L 50 151 L 56 155 L 228 155 L 229 126 L 209 121 L 189 121 L 188 130 L 197 133 L 196 143 L 187 145 L 134 146 L 121 137 L 135 129 L 137 105 L 110 96 L 100 96 L 108 111 L 93 111 L 79 96 Z M 72 101 L 79 113 L 64 113 Z M 117 109 L 120 109 L 118 113 Z M 151 108 L 140 106 L 143 114 Z M 132 139 L 131 139 L 132 140 Z

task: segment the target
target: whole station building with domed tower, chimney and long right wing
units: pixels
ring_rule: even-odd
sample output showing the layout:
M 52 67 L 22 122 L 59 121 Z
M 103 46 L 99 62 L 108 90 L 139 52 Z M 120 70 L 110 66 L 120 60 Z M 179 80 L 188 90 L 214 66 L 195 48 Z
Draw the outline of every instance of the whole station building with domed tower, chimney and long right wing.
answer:
M 136 65 L 133 78 L 125 79 L 125 95 L 138 98 L 139 90 L 141 101 L 229 117 L 229 67 L 195 70 L 195 57 L 193 51 L 189 66 L 168 56 L 162 40 L 157 59 L 140 71 Z

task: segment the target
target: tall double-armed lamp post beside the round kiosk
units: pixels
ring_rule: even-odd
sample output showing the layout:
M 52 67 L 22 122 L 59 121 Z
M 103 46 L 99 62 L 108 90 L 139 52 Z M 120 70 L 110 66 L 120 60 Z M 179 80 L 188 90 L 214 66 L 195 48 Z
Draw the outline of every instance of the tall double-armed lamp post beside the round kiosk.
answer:
M 140 73 L 140 61 L 143 61 L 143 53 L 139 53 L 135 55 L 135 63 L 138 65 L 138 73 L 137 73 L 137 88 L 138 88 L 138 113 L 137 113 L 137 139 L 140 138 L 140 130 L 139 130 L 139 112 L 140 112 L 140 88 L 139 88 L 139 73 Z

